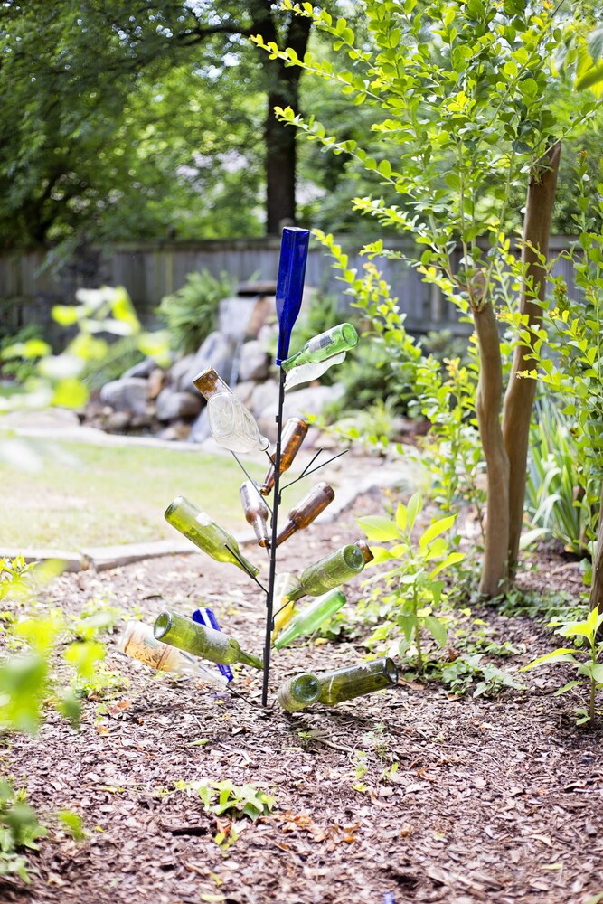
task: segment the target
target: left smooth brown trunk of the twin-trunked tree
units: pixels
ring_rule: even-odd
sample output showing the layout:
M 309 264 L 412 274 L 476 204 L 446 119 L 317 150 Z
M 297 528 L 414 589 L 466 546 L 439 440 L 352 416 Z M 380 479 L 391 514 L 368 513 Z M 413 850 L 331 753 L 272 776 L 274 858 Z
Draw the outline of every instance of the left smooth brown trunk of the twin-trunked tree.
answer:
M 504 590 L 509 543 L 509 460 L 500 423 L 503 363 L 498 323 L 492 305 L 475 308 L 481 362 L 476 391 L 476 415 L 487 468 L 485 551 L 479 592 L 495 597 Z

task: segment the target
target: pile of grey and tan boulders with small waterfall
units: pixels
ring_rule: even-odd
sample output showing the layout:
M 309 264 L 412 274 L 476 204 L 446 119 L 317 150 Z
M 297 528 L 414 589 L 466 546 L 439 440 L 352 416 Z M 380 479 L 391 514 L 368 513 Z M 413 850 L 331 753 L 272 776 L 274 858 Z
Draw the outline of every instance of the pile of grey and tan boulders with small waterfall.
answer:
M 278 372 L 271 363 L 277 344 L 274 284 L 246 284 L 237 297 L 221 302 L 218 329 L 194 354 L 167 370 L 152 358 L 130 368 L 102 387 L 90 402 L 86 421 L 110 433 L 154 433 L 163 439 L 203 442 L 210 430 L 205 400 L 194 377 L 212 366 L 257 419 L 260 431 L 276 438 Z M 339 399 L 343 388 L 307 386 L 287 392 L 285 419 L 316 415 Z

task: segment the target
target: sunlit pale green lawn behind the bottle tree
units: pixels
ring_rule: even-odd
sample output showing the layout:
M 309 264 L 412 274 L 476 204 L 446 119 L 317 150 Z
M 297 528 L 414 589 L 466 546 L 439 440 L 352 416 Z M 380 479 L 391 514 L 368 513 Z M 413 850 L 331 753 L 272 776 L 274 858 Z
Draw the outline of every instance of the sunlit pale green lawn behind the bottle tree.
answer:
M 0 455 L 0 544 L 24 549 L 178 539 L 164 519 L 167 505 L 185 495 L 224 527 L 249 530 L 239 499 L 245 479 L 231 457 L 146 446 L 26 444 L 10 464 Z M 5 451 L 11 447 L 9 439 Z M 28 452 L 41 467 L 24 470 Z M 244 462 L 263 479 L 260 457 Z

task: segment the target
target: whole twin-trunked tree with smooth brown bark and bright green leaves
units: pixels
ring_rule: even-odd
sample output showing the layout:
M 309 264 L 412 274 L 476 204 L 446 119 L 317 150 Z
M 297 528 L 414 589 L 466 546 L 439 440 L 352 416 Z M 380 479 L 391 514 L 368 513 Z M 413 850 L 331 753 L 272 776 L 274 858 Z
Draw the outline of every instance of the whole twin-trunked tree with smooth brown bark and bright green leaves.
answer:
M 518 0 L 367 0 L 375 52 L 356 40 L 344 19 L 334 22 L 309 3 L 284 0 L 281 6 L 312 18 L 350 68 L 309 56 L 300 63 L 274 42 L 259 40 L 259 45 L 271 57 L 302 65 L 338 85 L 354 103 L 368 102 L 372 131 L 382 138 L 381 159 L 354 140 L 340 140 L 313 118 L 304 120 L 292 109 L 279 115 L 310 139 L 352 155 L 395 189 L 396 204 L 369 196 L 355 198 L 354 208 L 412 234 L 424 250 L 410 263 L 473 319 L 480 355 L 476 414 L 488 480 L 480 591 L 495 596 L 512 577 L 517 560 L 534 389 L 532 381 L 515 379 L 526 368 L 529 351 L 519 342 L 503 407 L 497 310 L 508 306 L 517 281 L 523 326 L 538 329 L 560 142 L 576 122 L 592 118 L 598 104 L 577 99 L 571 122 L 567 109 L 555 106 L 550 61 L 564 21 L 550 6 L 535 9 Z M 505 228 L 513 188 L 526 182 L 522 261 L 517 265 Z M 384 249 L 382 240 L 365 251 L 396 256 Z M 344 278 L 355 285 L 353 271 L 344 270 Z

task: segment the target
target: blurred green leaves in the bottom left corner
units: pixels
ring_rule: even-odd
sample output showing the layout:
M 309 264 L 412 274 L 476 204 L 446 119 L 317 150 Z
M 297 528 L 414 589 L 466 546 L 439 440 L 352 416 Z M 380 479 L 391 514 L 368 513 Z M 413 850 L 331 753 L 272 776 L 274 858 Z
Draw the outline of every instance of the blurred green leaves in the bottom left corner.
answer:
M 14 791 L 10 782 L 0 781 L 0 876 L 16 873 L 29 882 L 27 861 L 20 851 L 38 851 L 38 839 L 47 834 L 25 803 L 24 790 Z

